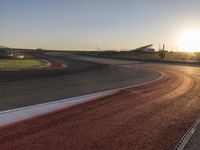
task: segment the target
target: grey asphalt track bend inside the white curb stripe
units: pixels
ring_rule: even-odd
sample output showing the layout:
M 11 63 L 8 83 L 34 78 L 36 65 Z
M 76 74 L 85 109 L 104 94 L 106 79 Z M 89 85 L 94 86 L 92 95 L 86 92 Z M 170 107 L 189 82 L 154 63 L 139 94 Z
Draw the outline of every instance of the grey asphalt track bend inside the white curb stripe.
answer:
M 9 72 L 0 76 L 0 111 L 139 84 L 158 73 L 122 68 L 68 57 L 49 56 L 66 69 Z M 38 73 L 38 74 L 37 74 Z

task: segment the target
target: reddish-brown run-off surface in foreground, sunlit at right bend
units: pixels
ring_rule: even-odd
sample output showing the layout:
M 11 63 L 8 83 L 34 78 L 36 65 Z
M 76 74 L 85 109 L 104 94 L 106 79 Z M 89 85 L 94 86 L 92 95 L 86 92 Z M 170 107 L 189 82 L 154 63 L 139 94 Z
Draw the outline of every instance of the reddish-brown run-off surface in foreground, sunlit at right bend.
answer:
M 200 112 L 198 67 L 128 64 L 153 83 L 0 129 L 0 149 L 173 149 Z

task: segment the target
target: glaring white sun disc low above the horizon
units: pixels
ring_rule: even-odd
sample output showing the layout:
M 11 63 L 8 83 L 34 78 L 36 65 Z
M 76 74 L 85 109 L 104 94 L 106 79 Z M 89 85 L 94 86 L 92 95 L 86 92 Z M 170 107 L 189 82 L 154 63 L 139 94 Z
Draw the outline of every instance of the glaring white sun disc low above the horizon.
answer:
M 200 30 L 189 30 L 179 38 L 179 47 L 185 52 L 200 52 Z

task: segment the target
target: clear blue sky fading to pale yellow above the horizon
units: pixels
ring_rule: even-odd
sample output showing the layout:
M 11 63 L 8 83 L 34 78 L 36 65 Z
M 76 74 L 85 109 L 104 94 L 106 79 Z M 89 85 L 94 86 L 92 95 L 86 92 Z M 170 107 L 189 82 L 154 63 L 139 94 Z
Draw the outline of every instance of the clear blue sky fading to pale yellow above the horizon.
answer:
M 200 31 L 199 7 L 199 0 L 0 0 L 0 45 L 120 50 L 164 43 L 178 51 L 186 31 Z

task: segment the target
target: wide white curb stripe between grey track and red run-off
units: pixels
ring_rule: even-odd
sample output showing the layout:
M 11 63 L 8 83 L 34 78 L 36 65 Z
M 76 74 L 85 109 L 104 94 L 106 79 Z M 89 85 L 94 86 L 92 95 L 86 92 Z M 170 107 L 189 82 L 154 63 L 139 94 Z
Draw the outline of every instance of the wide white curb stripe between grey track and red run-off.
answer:
M 116 91 L 117 92 L 117 91 Z M 100 97 L 108 96 L 116 92 L 101 92 L 91 95 L 85 95 L 75 98 L 63 99 L 43 104 L 36 104 L 27 107 L 21 107 L 12 110 L 0 112 L 0 127 L 9 125 L 18 121 L 36 117 L 42 114 L 53 112 L 62 108 L 69 108 L 81 103 L 85 103 Z

